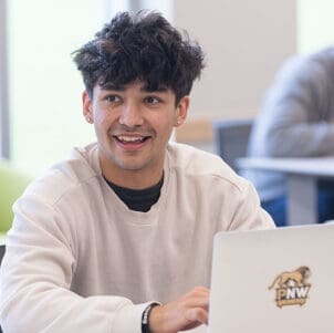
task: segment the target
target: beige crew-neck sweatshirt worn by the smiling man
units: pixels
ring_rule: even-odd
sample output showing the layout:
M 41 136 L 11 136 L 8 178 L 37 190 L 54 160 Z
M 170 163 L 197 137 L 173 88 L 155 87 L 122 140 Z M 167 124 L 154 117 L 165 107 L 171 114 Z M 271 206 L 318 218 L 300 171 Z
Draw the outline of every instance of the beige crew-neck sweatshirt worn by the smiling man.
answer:
M 274 226 L 218 156 L 178 144 L 148 212 L 119 200 L 92 144 L 30 185 L 14 214 L 0 273 L 6 333 L 140 333 L 147 302 L 209 287 L 217 231 Z

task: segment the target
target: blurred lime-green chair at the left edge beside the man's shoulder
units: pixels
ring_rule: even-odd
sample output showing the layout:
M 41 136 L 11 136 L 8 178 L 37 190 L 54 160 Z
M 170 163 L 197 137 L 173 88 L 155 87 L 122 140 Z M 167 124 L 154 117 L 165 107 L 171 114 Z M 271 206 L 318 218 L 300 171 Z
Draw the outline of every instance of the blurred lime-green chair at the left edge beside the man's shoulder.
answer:
M 0 244 L 12 225 L 12 205 L 30 181 L 27 174 L 14 168 L 10 162 L 0 159 Z

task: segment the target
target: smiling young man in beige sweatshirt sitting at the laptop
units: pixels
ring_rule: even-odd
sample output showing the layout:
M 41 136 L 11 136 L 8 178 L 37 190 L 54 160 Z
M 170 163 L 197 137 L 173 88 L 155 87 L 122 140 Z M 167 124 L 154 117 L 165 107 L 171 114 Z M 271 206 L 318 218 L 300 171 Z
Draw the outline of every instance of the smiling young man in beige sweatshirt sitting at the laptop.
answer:
M 219 157 L 169 143 L 202 51 L 157 13 L 121 13 L 74 61 L 97 143 L 74 149 L 15 204 L 1 325 L 176 333 L 206 324 L 213 235 L 273 222 Z

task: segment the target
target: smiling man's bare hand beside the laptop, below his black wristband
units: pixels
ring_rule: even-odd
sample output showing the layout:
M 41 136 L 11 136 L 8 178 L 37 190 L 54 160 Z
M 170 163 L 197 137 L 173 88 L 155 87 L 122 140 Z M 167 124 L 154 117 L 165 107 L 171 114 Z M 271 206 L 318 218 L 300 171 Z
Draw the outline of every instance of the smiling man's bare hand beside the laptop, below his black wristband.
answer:
M 209 289 L 197 287 L 178 300 L 153 308 L 152 333 L 177 333 L 208 324 Z

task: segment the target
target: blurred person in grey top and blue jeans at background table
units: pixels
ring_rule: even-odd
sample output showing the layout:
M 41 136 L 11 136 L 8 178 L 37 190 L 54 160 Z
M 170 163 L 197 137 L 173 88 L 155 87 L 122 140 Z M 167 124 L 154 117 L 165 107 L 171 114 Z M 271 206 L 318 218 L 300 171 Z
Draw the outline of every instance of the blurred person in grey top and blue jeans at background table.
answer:
M 252 127 L 249 157 L 334 156 L 334 48 L 289 59 L 268 90 Z M 286 225 L 283 174 L 248 169 L 262 207 Z M 319 181 L 319 222 L 334 218 L 334 181 Z

